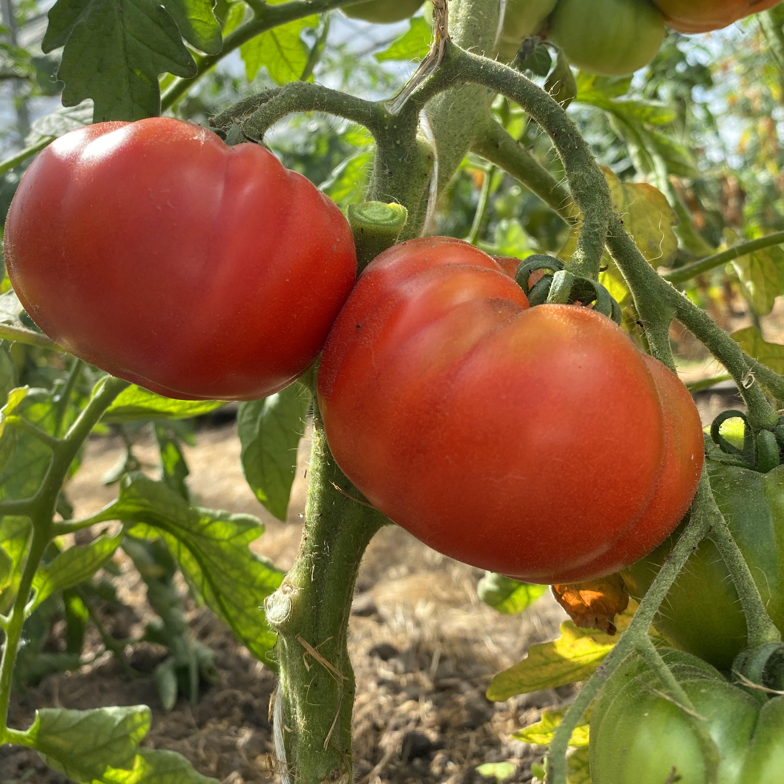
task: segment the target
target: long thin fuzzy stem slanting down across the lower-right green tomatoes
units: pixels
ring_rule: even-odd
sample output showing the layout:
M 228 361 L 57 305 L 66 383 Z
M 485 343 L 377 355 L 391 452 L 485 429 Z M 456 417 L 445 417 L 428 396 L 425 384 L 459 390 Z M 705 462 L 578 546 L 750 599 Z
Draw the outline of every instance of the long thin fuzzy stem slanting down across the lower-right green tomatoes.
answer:
M 648 636 L 653 618 L 659 609 L 659 605 L 664 601 L 670 587 L 675 582 L 677 575 L 681 572 L 688 557 L 695 550 L 697 545 L 705 538 L 708 528 L 716 517 L 710 504 L 706 505 L 706 498 L 712 494 L 710 484 L 705 472 L 702 472 L 697 495 L 691 504 L 691 521 L 686 526 L 681 538 L 673 547 L 670 556 L 662 565 L 659 574 L 653 581 L 652 586 L 645 594 L 637 612 L 629 624 L 629 627 L 621 635 L 621 639 L 615 648 L 608 654 L 604 662 L 601 663 L 589 681 L 583 686 L 577 699 L 569 706 L 561 724 L 553 736 L 550 744 L 550 755 L 548 757 L 548 776 L 551 784 L 567 784 L 566 782 L 566 751 L 572 731 L 579 724 L 586 708 L 590 705 L 593 698 L 599 693 L 607 682 L 608 678 L 615 672 L 623 659 L 626 659 L 635 648 L 641 646 L 642 637 Z

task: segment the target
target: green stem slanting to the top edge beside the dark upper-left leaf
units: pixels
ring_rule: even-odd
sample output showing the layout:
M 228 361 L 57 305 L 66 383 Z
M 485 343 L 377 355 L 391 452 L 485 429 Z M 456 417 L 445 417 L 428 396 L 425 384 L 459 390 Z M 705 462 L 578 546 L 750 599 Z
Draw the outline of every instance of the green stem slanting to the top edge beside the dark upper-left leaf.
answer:
M 292 0 L 292 2 L 280 5 L 267 5 L 264 2 L 249 3 L 248 5 L 251 5 L 255 12 L 253 18 L 223 38 L 223 49 L 219 53 L 194 58 L 196 60 L 196 74 L 187 79 L 177 78 L 169 85 L 169 88 L 161 96 L 161 111 L 172 107 L 204 74 L 220 63 L 220 60 L 230 55 L 235 49 L 239 49 L 251 38 L 256 38 L 257 35 L 281 24 L 303 19 L 314 13 L 323 13 L 333 8 L 339 8 L 341 5 L 350 5 L 352 2 L 357 2 L 357 0 Z

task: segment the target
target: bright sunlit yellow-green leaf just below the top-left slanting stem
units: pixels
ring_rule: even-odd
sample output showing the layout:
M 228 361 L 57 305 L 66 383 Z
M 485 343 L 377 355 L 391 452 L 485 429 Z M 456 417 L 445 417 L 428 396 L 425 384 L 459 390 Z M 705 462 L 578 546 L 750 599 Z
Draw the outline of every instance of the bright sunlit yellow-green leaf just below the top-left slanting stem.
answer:
M 318 16 L 306 16 L 273 27 L 241 45 L 240 56 L 248 81 L 252 82 L 264 66 L 278 85 L 296 82 L 307 65 L 308 50 L 301 38 L 306 27 L 318 27 Z

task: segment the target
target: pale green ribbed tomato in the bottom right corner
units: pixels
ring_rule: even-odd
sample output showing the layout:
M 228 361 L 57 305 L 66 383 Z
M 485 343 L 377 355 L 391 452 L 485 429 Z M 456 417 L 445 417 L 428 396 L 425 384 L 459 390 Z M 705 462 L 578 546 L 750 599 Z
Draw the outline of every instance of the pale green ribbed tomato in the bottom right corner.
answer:
M 707 784 L 710 768 L 695 721 L 720 755 L 721 784 L 780 784 L 784 770 L 784 697 L 767 699 L 721 677 L 696 656 L 664 650 L 663 659 L 696 717 L 662 695 L 658 676 L 633 654 L 604 686 L 590 717 L 594 784 Z

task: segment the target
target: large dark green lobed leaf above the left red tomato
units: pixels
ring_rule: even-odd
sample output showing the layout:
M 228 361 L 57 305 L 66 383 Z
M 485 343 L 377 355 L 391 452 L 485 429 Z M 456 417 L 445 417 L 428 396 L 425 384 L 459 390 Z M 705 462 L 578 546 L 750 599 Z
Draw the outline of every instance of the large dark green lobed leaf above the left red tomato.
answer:
M 92 98 L 93 122 L 154 117 L 158 74 L 196 73 L 175 20 L 154 0 L 58 0 L 41 46 L 65 46 L 63 105 Z

